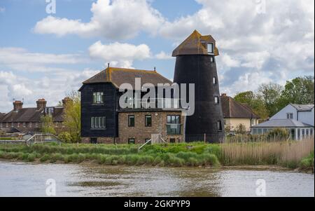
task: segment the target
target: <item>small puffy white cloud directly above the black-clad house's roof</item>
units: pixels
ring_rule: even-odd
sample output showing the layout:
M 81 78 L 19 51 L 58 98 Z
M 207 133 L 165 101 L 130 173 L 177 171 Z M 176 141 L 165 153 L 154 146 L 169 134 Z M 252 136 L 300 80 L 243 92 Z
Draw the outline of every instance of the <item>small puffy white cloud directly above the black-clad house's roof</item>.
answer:
M 102 44 L 97 41 L 89 48 L 90 57 L 110 62 L 111 66 L 132 67 L 134 60 L 144 60 L 151 57 L 150 48 L 141 44 L 134 46 L 128 43 L 110 43 L 109 45 Z

